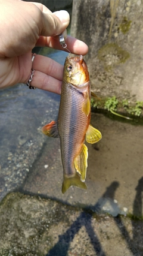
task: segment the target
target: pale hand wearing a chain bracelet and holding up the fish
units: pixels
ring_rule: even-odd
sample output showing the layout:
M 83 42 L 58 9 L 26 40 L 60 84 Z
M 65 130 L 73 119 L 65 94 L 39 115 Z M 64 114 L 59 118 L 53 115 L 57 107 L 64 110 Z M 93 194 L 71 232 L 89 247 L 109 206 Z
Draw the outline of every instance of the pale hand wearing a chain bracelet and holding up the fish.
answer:
M 33 68 L 31 86 L 60 94 L 63 66 L 41 55 L 36 55 L 32 64 L 32 49 L 46 46 L 63 50 L 58 35 L 66 34 L 69 22 L 67 11 L 52 13 L 39 3 L 0 0 L 0 89 L 27 83 Z M 66 44 L 76 55 L 88 52 L 88 46 L 76 38 L 67 36 Z

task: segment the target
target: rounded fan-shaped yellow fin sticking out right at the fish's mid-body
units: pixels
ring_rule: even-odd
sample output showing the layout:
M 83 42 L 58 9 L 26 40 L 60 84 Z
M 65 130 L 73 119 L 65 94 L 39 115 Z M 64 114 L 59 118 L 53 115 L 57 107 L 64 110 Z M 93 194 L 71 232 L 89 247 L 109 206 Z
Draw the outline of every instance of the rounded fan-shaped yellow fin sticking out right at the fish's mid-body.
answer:
M 97 141 L 101 140 L 102 134 L 98 129 L 95 129 L 92 127 L 92 125 L 89 125 L 88 131 L 86 132 L 86 141 L 88 143 L 94 144 Z

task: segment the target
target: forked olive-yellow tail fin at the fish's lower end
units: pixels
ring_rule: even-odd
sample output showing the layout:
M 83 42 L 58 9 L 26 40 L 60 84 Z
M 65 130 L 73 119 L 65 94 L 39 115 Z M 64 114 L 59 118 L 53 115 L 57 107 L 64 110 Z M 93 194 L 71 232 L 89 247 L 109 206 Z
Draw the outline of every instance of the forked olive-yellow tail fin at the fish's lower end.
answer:
M 84 182 L 80 180 L 79 175 L 76 173 L 74 177 L 64 177 L 62 185 L 62 193 L 64 194 L 70 186 L 77 186 L 78 188 L 87 189 L 87 186 Z

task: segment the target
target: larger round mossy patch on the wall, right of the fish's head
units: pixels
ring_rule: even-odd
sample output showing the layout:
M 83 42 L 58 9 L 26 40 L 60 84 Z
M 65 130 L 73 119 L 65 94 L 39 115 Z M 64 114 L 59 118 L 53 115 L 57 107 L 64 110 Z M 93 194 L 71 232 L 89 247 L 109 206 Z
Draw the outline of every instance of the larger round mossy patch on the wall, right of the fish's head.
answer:
M 130 54 L 116 43 L 105 44 L 98 50 L 98 59 L 103 62 L 105 69 L 110 69 L 116 65 L 125 63 Z

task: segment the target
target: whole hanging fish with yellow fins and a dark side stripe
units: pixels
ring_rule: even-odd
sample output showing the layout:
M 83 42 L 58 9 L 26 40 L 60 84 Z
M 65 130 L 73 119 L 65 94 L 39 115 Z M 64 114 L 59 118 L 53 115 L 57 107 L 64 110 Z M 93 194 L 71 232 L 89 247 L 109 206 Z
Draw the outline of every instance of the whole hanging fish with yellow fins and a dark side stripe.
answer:
M 92 93 L 93 96 L 94 93 Z M 44 134 L 60 138 L 63 163 L 63 194 L 70 186 L 87 189 L 88 143 L 96 143 L 102 135 L 92 127 L 91 86 L 83 56 L 67 56 L 64 63 L 61 100 L 57 121 L 42 128 Z

